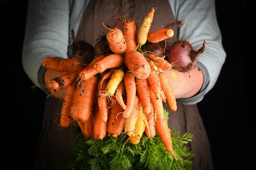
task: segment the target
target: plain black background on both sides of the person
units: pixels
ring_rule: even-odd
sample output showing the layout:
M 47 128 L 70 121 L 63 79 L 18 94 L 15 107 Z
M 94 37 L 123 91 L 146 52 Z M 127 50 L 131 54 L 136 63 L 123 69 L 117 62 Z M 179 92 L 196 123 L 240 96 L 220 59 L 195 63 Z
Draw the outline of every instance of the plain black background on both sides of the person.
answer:
M 198 104 L 211 142 L 215 170 L 256 169 L 253 4 L 252 0 L 216 0 L 227 59 L 216 85 Z M 34 84 L 21 64 L 26 10 L 27 0 L 0 0 L 2 63 L 7 62 L 2 66 L 7 70 L 1 81 L 5 87 L 2 97 L 6 96 L 2 105 L 7 106 L 2 111 L 2 141 L 4 159 L 13 162 L 5 165 L 30 170 L 46 95 L 39 88 L 32 88 Z

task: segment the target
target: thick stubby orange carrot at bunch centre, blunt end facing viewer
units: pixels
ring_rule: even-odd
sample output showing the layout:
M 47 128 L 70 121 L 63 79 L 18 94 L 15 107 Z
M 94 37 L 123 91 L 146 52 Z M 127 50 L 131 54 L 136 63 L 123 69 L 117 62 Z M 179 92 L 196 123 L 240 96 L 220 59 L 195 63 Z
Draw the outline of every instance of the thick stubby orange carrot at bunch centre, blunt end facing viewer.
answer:
M 144 55 L 138 51 L 129 51 L 126 53 L 124 64 L 138 79 L 146 79 L 150 75 L 150 65 Z

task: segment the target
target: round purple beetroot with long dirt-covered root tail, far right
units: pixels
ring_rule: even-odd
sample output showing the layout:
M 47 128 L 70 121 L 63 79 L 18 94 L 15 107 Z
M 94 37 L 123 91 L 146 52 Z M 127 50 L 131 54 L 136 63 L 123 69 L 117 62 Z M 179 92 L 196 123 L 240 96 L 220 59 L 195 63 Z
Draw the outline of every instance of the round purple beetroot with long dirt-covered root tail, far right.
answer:
M 173 63 L 173 68 L 180 72 L 189 72 L 195 68 L 197 59 L 202 54 L 206 47 L 206 40 L 199 50 L 186 40 L 179 40 L 171 45 L 168 50 L 168 60 Z

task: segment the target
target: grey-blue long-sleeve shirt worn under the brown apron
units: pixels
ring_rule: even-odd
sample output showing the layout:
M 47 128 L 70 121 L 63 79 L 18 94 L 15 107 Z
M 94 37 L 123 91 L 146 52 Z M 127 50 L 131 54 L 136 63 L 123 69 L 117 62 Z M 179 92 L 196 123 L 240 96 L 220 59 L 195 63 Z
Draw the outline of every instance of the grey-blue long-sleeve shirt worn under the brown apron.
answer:
M 75 33 L 89 0 L 29 0 L 22 64 L 34 84 L 43 83 L 46 56 L 67 58 L 72 56 L 70 30 Z M 179 99 L 184 104 L 196 104 L 215 85 L 226 53 L 216 19 L 214 0 L 169 0 L 176 20 L 188 25 L 180 28 L 178 38 L 189 41 L 200 49 L 204 39 L 207 48 L 198 57 L 198 66 L 204 74 L 200 93 L 189 99 Z M 92 28 L 93 29 L 93 28 Z M 89 42 L 93 46 L 94 42 Z

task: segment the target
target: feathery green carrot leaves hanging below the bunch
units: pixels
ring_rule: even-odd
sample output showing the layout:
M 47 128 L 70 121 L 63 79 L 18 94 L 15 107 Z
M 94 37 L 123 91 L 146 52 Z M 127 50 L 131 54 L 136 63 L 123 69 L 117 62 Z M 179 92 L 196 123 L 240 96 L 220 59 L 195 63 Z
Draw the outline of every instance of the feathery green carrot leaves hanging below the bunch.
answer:
M 64 170 L 191 170 L 194 157 L 192 151 L 184 146 L 192 141 L 193 135 L 172 133 L 173 150 L 177 161 L 156 135 L 149 139 L 141 137 L 139 144 L 131 144 L 128 136 L 121 133 L 118 137 L 95 140 L 75 132 L 76 140 L 71 146 L 70 157 Z

